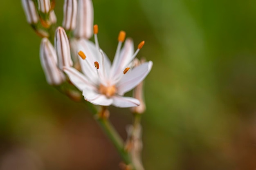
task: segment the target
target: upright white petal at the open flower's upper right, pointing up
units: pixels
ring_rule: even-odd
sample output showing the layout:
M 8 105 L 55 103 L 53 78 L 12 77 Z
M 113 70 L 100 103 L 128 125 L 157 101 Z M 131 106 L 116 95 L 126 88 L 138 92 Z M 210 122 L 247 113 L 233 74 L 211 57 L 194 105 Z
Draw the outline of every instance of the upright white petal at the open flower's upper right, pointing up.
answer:
M 114 62 L 111 67 L 111 79 L 116 79 L 120 74 L 123 73 L 124 69 L 128 67 L 130 58 L 134 53 L 133 41 L 130 38 L 127 38 L 124 47 L 122 48 L 120 55 L 114 59 Z

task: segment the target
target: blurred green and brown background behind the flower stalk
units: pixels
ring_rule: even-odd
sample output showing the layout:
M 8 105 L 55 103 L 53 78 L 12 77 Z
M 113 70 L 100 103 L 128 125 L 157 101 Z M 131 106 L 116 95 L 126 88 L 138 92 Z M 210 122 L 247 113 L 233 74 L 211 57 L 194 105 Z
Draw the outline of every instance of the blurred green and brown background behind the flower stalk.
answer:
M 120 30 L 154 62 L 145 81 L 146 170 L 256 169 L 256 1 L 93 0 L 101 48 Z M 56 0 L 58 24 L 63 0 Z M 0 170 L 118 170 L 86 107 L 45 81 L 20 0 L 0 5 Z M 122 137 L 129 109 L 110 107 Z

